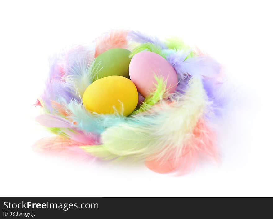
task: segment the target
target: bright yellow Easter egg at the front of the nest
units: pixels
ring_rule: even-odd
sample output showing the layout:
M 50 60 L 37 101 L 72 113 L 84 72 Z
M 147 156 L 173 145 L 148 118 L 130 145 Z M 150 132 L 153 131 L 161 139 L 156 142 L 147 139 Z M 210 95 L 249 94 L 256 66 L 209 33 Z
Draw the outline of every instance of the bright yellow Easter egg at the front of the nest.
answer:
M 109 76 L 90 84 L 83 93 L 83 105 L 90 112 L 128 116 L 137 107 L 135 84 L 122 76 Z

